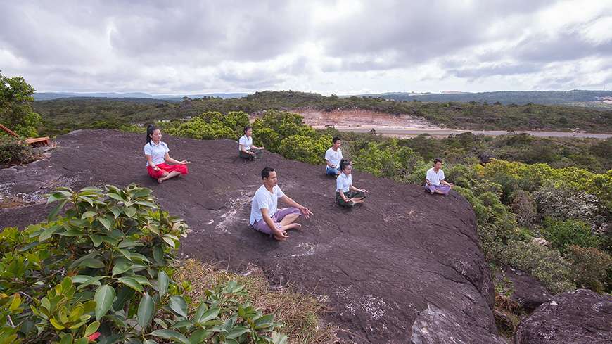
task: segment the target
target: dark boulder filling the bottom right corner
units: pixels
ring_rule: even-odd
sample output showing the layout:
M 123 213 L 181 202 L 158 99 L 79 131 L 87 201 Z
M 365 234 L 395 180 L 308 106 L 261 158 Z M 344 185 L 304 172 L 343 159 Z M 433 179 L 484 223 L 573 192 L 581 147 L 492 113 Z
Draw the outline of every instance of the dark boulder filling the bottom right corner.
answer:
M 578 289 L 561 293 L 523 319 L 515 344 L 610 344 L 612 296 Z

